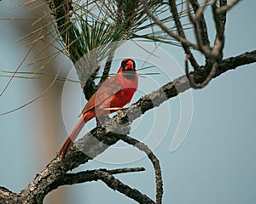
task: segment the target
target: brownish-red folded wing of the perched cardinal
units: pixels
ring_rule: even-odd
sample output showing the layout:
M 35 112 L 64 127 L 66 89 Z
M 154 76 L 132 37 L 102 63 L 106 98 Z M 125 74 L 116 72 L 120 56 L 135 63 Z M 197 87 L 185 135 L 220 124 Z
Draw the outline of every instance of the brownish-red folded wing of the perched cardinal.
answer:
M 119 83 L 119 75 L 108 78 L 105 82 L 102 82 L 100 88 L 98 88 L 96 93 L 91 96 L 88 103 L 84 106 L 81 114 L 90 111 L 96 106 L 102 105 L 103 102 L 107 102 L 108 99 L 111 99 L 111 97 L 118 93 L 121 89 L 122 87 Z

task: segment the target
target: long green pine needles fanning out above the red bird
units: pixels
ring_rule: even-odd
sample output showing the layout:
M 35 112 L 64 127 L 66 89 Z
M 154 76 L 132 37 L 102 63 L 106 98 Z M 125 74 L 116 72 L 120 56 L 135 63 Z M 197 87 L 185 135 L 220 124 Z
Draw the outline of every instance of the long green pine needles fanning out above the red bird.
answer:
M 37 3 L 32 3 L 32 9 L 40 9 L 42 3 Z M 77 68 L 80 74 L 86 75 L 86 69 L 96 70 L 102 60 L 113 55 L 114 50 L 126 40 L 179 45 L 174 39 L 167 37 L 159 26 L 148 20 L 148 15 L 143 10 L 143 3 L 139 0 L 78 0 L 72 4 L 66 1 L 47 3 L 51 11 L 44 13 L 32 24 L 36 26 L 38 23 L 43 23 L 44 26 L 19 39 L 36 35 L 29 45 L 38 41 L 47 42 L 38 52 L 37 59 L 31 63 L 43 62 L 36 73 L 60 54 L 66 54 L 73 64 L 83 57 L 84 66 Z M 150 11 L 173 31 L 172 14 L 166 4 L 168 1 L 165 0 L 148 1 Z M 183 1 L 177 3 L 177 7 L 180 9 L 181 17 L 185 16 Z M 184 29 L 188 29 L 190 25 L 183 26 Z M 55 51 L 45 56 L 44 50 L 49 47 L 53 47 Z

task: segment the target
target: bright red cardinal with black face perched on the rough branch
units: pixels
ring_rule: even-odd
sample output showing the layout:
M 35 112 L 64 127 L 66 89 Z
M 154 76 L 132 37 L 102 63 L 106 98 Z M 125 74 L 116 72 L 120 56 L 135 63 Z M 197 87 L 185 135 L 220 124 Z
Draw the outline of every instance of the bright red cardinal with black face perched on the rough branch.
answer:
M 124 59 L 117 74 L 102 82 L 96 93 L 91 96 L 84 106 L 81 112 L 83 116 L 61 146 L 59 156 L 62 154 L 62 159 L 67 155 L 73 141 L 78 137 L 86 122 L 94 117 L 119 111 L 120 108 L 130 103 L 138 85 L 135 68 L 136 65 L 133 59 Z

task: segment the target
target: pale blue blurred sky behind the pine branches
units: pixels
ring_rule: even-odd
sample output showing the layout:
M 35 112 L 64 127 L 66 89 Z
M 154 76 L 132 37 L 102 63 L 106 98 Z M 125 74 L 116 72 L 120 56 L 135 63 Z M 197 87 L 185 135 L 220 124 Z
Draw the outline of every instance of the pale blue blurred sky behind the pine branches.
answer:
M 25 16 L 22 12 L 26 8 L 17 8 L 19 13 L 9 9 L 15 5 L 14 2 L 1 1 L 0 4 L 0 26 L 4 28 L 0 31 L 0 71 L 14 71 L 28 49 L 26 42 L 15 42 L 25 35 L 20 30 L 27 20 L 3 18 Z M 255 6 L 255 1 L 241 1 L 228 14 L 224 58 L 256 48 L 256 28 L 253 26 Z M 210 33 L 211 31 L 210 26 Z M 127 47 L 120 48 L 115 55 L 113 72 L 118 69 L 119 59 L 128 56 L 137 60 L 137 67 L 143 66 L 146 54 L 143 55 L 143 51 L 132 44 L 126 43 L 124 46 Z M 152 44 L 143 46 L 154 48 Z M 148 64 L 156 65 L 154 71 L 159 71 L 160 76 L 140 77 L 140 87 L 133 102 L 183 73 L 184 55 L 181 48 L 161 45 L 155 53 L 157 57 L 151 56 Z M 21 67 L 22 71 L 31 69 L 26 66 L 31 60 L 26 59 L 25 65 Z M 166 69 L 166 63 L 169 63 L 170 68 Z M 72 67 L 68 63 L 65 66 L 67 69 Z M 160 159 L 164 178 L 164 203 L 255 203 L 254 67 L 255 65 L 244 65 L 227 71 L 213 79 L 206 88 L 190 89 L 159 108 L 148 111 L 132 124 L 131 137 L 142 139 L 154 149 L 155 155 Z M 68 76 L 76 77 L 73 71 Z M 8 77 L 0 77 L 0 91 L 8 80 Z M 10 83 L 9 88 L 0 96 L 1 113 L 40 94 L 36 85 L 38 81 L 28 81 L 15 79 Z M 47 80 L 46 83 L 49 84 Z M 54 110 L 59 112 L 57 117 L 46 113 L 46 110 L 45 116 L 42 116 L 39 113 L 44 113 L 44 110 L 38 111 L 44 107 L 44 103 L 51 105 L 53 95 L 50 93 L 20 111 L 0 116 L 1 186 L 15 192 L 24 189 L 36 173 L 55 157 L 62 141 L 77 122 L 79 110 L 85 103 L 81 89 L 77 83 L 65 82 L 62 88 L 63 84 L 64 82 L 57 82 L 55 85 L 60 95 L 60 99 L 54 101 Z M 68 88 L 72 88 L 71 91 Z M 53 120 L 58 121 L 57 127 L 51 127 Z M 44 122 L 49 122 L 46 127 L 59 131 L 59 136 L 56 136 L 58 138 L 52 139 L 52 142 L 47 140 L 46 143 L 44 140 L 46 135 L 41 128 Z M 94 122 L 89 122 L 84 133 L 94 125 Z M 56 130 L 58 127 L 61 130 Z M 180 137 L 178 133 L 184 132 L 187 134 L 183 135 L 183 143 L 177 150 L 171 151 L 172 139 Z M 127 173 L 117 175 L 116 178 L 154 199 L 154 169 L 147 157 L 135 148 L 119 142 L 111 150 L 75 171 L 102 167 L 145 167 L 147 171 L 144 173 Z M 65 192 L 67 203 L 136 203 L 119 192 L 108 189 L 100 181 L 65 186 L 59 191 Z M 55 191 L 52 195 L 57 196 Z M 50 204 L 48 196 L 44 203 Z

